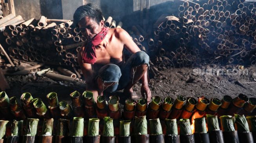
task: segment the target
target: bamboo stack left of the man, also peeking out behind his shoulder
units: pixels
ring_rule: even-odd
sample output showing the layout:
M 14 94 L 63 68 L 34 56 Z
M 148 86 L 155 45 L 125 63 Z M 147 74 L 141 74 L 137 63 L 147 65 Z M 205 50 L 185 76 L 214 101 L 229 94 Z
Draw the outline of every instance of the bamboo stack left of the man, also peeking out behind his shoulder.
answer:
M 45 16 L 41 16 L 39 20 L 32 18 L 23 21 L 21 16 L 11 16 L 10 14 L 0 20 L 0 30 L 4 31 L 8 45 L 5 50 L 11 58 L 79 66 L 77 52 L 87 39 L 73 21 L 47 19 Z M 116 27 L 116 21 L 112 18 L 105 22 L 107 23 L 110 23 L 109 27 Z M 122 27 L 122 22 L 117 27 Z

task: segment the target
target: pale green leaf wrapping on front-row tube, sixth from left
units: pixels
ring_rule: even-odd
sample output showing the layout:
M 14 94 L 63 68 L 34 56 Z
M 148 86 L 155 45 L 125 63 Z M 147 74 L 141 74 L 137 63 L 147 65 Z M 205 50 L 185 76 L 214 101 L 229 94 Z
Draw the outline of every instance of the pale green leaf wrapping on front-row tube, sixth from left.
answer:
M 71 136 L 75 136 L 75 137 L 84 136 L 84 118 L 82 117 L 73 118 Z

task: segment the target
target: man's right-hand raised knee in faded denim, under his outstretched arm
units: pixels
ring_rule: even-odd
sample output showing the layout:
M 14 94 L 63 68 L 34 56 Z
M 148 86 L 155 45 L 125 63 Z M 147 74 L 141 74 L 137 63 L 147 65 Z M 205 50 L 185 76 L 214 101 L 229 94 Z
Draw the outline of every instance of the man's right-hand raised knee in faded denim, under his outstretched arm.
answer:
M 147 64 L 149 66 L 149 55 L 144 51 L 134 53 L 133 66 L 140 66 L 141 64 Z

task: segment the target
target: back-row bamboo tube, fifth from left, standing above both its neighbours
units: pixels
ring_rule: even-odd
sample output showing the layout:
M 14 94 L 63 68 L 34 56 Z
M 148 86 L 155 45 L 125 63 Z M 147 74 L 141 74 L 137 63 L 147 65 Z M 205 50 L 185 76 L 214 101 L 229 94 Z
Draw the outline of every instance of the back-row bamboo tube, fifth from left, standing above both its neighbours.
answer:
M 54 119 L 60 118 L 59 101 L 56 92 L 49 93 L 46 98 L 48 99 L 48 108 L 51 112 L 51 116 Z

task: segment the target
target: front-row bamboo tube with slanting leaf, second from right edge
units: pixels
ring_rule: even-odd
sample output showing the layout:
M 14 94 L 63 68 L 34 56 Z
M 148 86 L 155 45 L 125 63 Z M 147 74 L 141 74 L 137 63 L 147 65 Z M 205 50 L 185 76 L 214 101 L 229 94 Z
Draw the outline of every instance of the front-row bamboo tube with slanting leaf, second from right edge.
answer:
M 238 132 L 240 143 L 254 143 L 252 132 L 244 115 L 235 114 L 235 128 Z

